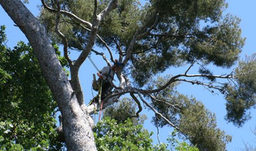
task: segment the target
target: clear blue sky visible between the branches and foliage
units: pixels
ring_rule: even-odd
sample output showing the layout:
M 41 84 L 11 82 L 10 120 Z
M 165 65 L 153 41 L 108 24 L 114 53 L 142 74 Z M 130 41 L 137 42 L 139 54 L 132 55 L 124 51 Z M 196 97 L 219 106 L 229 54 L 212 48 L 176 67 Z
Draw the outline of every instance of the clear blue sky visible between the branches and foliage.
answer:
M 256 20 L 255 20 L 255 14 L 256 14 L 256 1 L 255 0 L 247 0 L 247 1 L 238 1 L 238 0 L 228 0 L 229 4 L 228 9 L 224 13 L 231 13 L 235 16 L 242 19 L 240 23 L 240 27 L 242 28 L 242 36 L 246 37 L 245 46 L 243 48 L 243 52 L 240 55 L 240 57 L 244 58 L 245 54 L 251 55 L 255 53 L 256 49 L 256 43 L 255 43 L 255 35 L 256 35 Z M 30 1 L 29 4 L 27 4 L 27 7 L 29 10 L 32 11 L 33 14 L 37 15 L 39 13 L 39 9 L 37 8 L 37 5 L 40 4 L 40 1 Z M 7 16 L 6 12 L 3 11 L 2 7 L 0 7 L 0 25 L 5 25 L 6 33 L 8 36 L 8 42 L 7 45 L 9 47 L 16 46 L 18 41 L 25 41 L 27 42 L 26 37 L 24 34 L 19 31 L 18 27 L 13 26 L 13 22 L 11 19 Z M 77 53 L 73 54 L 72 56 L 75 57 Z M 105 64 L 102 64 L 102 62 L 99 62 L 99 57 L 93 57 L 93 60 L 96 60 L 96 64 L 99 68 L 105 66 Z M 215 73 L 228 73 L 228 71 L 225 71 L 224 69 L 218 69 L 214 68 Z M 95 73 L 96 70 L 93 68 L 90 64 L 90 62 L 86 61 L 83 66 L 80 69 L 80 78 L 81 78 L 81 84 L 83 87 L 83 91 L 85 92 L 85 100 L 86 104 L 89 102 L 89 100 L 92 97 L 91 94 L 91 79 L 92 79 L 92 73 Z M 179 74 L 175 72 L 181 72 L 181 71 L 171 71 L 171 74 Z M 178 88 L 181 93 L 187 94 L 187 95 L 193 95 L 198 100 L 201 100 L 207 109 L 209 109 L 211 112 L 215 113 L 217 118 L 218 127 L 227 134 L 232 135 L 232 143 L 228 144 L 228 150 L 239 150 L 241 148 L 244 148 L 244 143 L 256 145 L 255 139 L 256 137 L 251 132 L 251 129 L 254 129 L 256 127 L 256 110 L 252 109 L 252 119 L 250 119 L 247 123 L 244 124 L 242 128 L 237 128 L 231 123 L 227 123 L 224 120 L 224 116 L 226 114 L 225 111 L 225 100 L 223 95 L 213 95 L 208 92 L 208 90 L 205 90 L 202 87 L 196 87 L 191 84 L 182 84 L 181 87 Z M 94 95 L 96 93 L 94 92 Z M 146 109 L 147 110 L 147 109 Z M 145 123 L 145 127 L 149 129 L 149 131 L 154 131 L 153 139 L 154 143 L 157 143 L 156 139 L 156 128 L 152 126 L 150 123 L 150 120 L 147 120 Z M 170 133 L 170 128 L 166 127 L 163 129 L 160 129 L 160 140 L 162 142 L 166 142 L 166 137 L 168 137 Z

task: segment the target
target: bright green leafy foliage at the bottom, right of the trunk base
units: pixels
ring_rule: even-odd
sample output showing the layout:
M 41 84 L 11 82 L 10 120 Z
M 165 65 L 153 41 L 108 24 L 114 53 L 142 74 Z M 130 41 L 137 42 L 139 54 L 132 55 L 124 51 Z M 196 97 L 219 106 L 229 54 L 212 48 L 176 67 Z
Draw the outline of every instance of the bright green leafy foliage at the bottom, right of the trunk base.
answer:
M 167 150 L 165 144 L 152 146 L 152 133 L 142 125 L 134 125 L 130 119 L 124 123 L 105 117 L 94 128 L 95 142 L 98 150 Z

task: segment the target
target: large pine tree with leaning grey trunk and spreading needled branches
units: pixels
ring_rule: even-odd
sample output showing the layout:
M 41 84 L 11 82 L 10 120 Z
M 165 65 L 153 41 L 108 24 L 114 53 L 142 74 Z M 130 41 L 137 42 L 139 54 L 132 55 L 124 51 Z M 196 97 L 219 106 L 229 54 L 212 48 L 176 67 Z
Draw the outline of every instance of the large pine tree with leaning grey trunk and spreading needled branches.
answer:
M 188 120 L 182 115 L 190 115 L 188 113 L 191 113 L 191 104 L 194 110 L 199 110 L 197 106 L 203 106 L 196 103 L 195 99 L 174 93 L 172 88 L 179 82 L 198 84 L 208 88 L 210 92 L 217 90 L 223 93 L 228 100 L 227 119 L 238 125 L 248 119 L 246 111 L 255 105 L 254 78 L 243 78 L 254 75 L 255 66 L 246 66 L 255 64 L 254 59 L 245 62 L 244 66 L 239 66 L 235 72 L 223 75 L 215 75 L 207 67 L 209 64 L 223 68 L 232 67 L 238 61 L 244 44 L 244 39 L 240 36 L 239 19 L 230 14 L 222 15 L 226 7 L 225 1 L 151 0 L 145 6 L 139 6 L 139 1 L 132 0 L 42 0 L 45 9 L 42 9 L 40 19 L 46 26 L 51 40 L 64 46 L 63 54 L 70 67 L 70 81 L 58 62 L 45 29 L 37 19 L 17 0 L 0 3 L 26 34 L 36 53 L 46 82 L 61 110 L 63 133 L 69 150 L 96 149 L 89 114 L 93 113 L 95 108 L 99 110 L 100 104 L 88 107 L 83 104 L 83 92 L 78 77 L 79 68 L 90 53 L 100 54 L 107 64 L 114 62 L 115 53 L 119 61 L 125 64 L 122 72 L 117 73 L 120 85 L 116 88 L 119 92 L 109 95 L 103 108 L 117 102 L 121 95 L 130 94 L 139 108 L 136 116 L 139 116 L 142 110 L 142 102 L 156 114 L 155 120 L 159 120 L 156 125 L 168 124 L 188 135 L 191 142 L 194 133 L 192 134 L 193 130 L 182 127 L 182 123 Z M 18 9 L 13 9 L 14 6 L 18 6 Z M 26 17 L 23 17 L 23 14 L 26 14 Z M 201 24 L 202 22 L 204 24 Z M 93 49 L 94 44 L 106 48 L 109 55 Z M 68 51 L 71 49 L 81 51 L 75 61 L 68 57 Z M 158 85 L 149 83 L 157 73 L 171 67 L 184 66 L 188 66 L 184 73 L 169 75 Z M 198 73 L 189 74 L 191 68 L 198 68 Z M 243 74 L 239 75 L 239 72 Z M 176 98 L 183 102 L 175 102 Z M 171 116 L 177 114 L 180 115 L 177 119 Z M 205 113 L 205 110 L 200 115 L 214 117 Z M 228 139 L 222 138 L 224 134 L 215 128 L 214 120 L 207 118 L 203 118 L 206 120 L 202 124 L 209 124 L 211 131 L 203 132 L 213 134 L 213 131 L 218 131 L 218 140 L 223 142 L 221 145 L 224 144 L 225 148 Z M 201 121 L 193 122 L 200 124 Z M 197 130 L 194 132 L 199 132 Z M 199 140 L 199 143 L 202 140 Z

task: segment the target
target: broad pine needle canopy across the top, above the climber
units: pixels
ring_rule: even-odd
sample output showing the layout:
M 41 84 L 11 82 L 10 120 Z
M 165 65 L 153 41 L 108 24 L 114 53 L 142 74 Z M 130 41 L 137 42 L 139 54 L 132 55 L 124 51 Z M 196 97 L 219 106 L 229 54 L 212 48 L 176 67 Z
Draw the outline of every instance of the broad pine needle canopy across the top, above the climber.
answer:
M 47 1 L 56 8 L 53 1 Z M 98 1 L 99 14 L 110 1 Z M 60 1 L 61 8 L 85 21 L 92 22 L 94 2 L 91 0 Z M 111 47 L 112 53 L 125 55 L 131 39 L 139 29 L 143 34 L 134 44 L 127 73 L 139 86 L 145 85 L 157 73 L 169 67 L 179 67 L 195 61 L 204 65 L 213 63 L 219 67 L 231 67 L 237 61 L 244 45 L 239 28 L 240 19 L 222 12 L 227 7 L 224 0 L 159 1 L 151 0 L 141 6 L 137 0 L 121 0 L 101 22 L 99 36 Z M 65 21 L 72 22 L 66 16 Z M 55 33 L 55 14 L 42 9 L 41 21 L 52 36 L 61 43 Z M 151 19 L 150 19 L 151 18 Z M 152 28 L 151 32 L 147 33 Z M 69 41 L 69 47 L 86 46 L 88 32 L 72 22 L 61 22 L 60 29 Z M 75 38 L 77 37 L 77 39 Z M 104 48 L 101 41 L 96 45 Z

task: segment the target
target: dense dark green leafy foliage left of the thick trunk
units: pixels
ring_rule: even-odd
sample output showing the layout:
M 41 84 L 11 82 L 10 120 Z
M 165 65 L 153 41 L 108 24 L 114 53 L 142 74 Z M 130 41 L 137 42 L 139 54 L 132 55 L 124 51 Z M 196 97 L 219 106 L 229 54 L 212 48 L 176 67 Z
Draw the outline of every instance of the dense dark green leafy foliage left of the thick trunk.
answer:
M 5 35 L 1 28 L 0 39 Z M 0 45 L 0 150 L 60 150 L 57 104 L 29 45 Z

